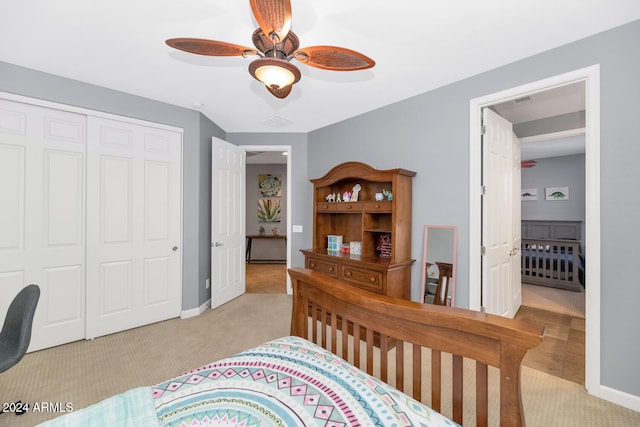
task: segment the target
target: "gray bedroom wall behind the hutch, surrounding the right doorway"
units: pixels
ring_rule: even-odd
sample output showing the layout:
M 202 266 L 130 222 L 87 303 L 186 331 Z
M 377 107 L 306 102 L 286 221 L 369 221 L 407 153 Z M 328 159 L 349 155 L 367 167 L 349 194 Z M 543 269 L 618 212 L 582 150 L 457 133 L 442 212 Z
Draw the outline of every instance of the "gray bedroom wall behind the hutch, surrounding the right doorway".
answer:
M 492 48 L 486 47 L 488 54 Z M 309 134 L 309 175 L 322 176 L 347 160 L 416 171 L 413 257 L 422 258 L 424 224 L 457 225 L 456 304 L 468 306 L 469 286 L 478 286 L 478 280 L 469 277 L 470 100 L 600 64 L 601 382 L 640 396 L 640 341 L 625 332 L 629 325 L 640 324 L 640 287 L 635 284 L 640 245 L 629 232 L 640 217 L 635 188 L 640 181 L 635 165 L 640 108 L 636 97 L 629 96 L 640 93 L 639 51 L 640 21 L 634 21 L 314 131 Z M 412 272 L 412 296 L 417 298 L 420 266 L 414 265 Z

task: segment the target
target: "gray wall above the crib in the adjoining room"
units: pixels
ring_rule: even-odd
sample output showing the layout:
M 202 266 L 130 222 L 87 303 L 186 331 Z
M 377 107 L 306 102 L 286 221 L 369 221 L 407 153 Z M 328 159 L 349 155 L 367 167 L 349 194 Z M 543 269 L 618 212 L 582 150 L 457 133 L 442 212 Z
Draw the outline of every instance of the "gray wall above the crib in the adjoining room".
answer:
M 522 202 L 522 219 L 554 219 L 584 221 L 585 156 L 549 157 L 522 169 L 522 188 L 536 188 L 538 200 Z M 569 187 L 569 200 L 545 200 L 546 187 Z M 584 230 L 583 230 L 584 231 Z M 582 233 L 584 236 L 584 233 Z

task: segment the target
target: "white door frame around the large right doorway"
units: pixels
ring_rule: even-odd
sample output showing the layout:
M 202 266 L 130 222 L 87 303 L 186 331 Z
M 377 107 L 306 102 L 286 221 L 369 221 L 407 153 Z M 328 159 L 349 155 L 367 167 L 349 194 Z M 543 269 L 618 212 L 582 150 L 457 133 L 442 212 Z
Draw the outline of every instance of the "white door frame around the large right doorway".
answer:
M 586 149 L 585 149 L 585 240 L 586 259 L 586 348 L 585 386 L 595 396 L 619 403 L 623 398 L 615 390 L 600 383 L 600 66 L 593 65 L 565 74 L 517 86 L 475 98 L 469 106 L 469 283 L 481 277 L 481 109 L 524 95 L 558 86 L 585 82 Z M 480 287 L 469 286 L 469 308 L 480 310 Z M 625 403 L 619 403 L 625 405 Z M 627 405 L 628 406 L 628 402 Z

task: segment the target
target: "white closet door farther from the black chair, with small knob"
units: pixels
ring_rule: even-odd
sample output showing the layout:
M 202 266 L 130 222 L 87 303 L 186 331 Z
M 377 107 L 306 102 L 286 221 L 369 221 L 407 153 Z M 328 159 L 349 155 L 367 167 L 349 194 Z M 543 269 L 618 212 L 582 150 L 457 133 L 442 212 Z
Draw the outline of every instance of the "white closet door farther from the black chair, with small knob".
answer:
M 180 314 L 181 139 L 88 118 L 87 338 Z

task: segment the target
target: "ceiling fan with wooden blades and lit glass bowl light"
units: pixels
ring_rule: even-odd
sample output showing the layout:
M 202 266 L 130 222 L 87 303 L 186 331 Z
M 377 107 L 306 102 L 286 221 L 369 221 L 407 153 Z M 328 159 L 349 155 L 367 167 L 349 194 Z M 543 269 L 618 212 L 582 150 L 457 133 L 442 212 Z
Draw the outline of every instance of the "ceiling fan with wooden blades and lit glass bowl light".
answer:
M 260 28 L 253 32 L 256 47 L 207 39 L 175 38 L 166 43 L 189 53 L 207 56 L 259 56 L 249 64 L 249 73 L 278 98 L 286 98 L 300 71 L 290 61 L 296 59 L 312 67 L 332 71 L 371 68 L 375 62 L 354 50 L 337 46 L 311 46 L 299 49 L 300 41 L 291 28 L 290 0 L 249 0 Z

